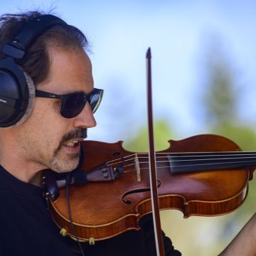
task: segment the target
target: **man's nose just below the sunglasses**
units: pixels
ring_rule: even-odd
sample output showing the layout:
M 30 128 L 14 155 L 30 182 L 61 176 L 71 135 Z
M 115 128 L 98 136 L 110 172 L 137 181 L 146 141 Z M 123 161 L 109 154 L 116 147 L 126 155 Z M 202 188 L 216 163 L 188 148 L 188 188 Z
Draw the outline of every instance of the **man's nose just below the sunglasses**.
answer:
M 93 116 L 90 105 L 87 102 L 82 112 L 80 112 L 80 114 L 74 118 L 74 127 L 92 128 L 95 127 L 96 124 L 97 122 L 95 117 Z

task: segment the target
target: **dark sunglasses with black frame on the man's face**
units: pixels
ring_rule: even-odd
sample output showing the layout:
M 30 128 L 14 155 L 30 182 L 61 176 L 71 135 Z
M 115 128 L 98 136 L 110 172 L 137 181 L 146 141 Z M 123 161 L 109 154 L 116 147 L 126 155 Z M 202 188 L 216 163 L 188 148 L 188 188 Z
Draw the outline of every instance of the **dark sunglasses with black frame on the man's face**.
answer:
M 103 90 L 94 88 L 92 92 L 73 92 L 66 95 L 56 95 L 51 92 L 36 90 L 36 97 L 46 97 L 62 101 L 60 114 L 66 118 L 76 117 L 82 112 L 86 102 L 89 102 L 92 113 L 95 113 L 102 100 Z

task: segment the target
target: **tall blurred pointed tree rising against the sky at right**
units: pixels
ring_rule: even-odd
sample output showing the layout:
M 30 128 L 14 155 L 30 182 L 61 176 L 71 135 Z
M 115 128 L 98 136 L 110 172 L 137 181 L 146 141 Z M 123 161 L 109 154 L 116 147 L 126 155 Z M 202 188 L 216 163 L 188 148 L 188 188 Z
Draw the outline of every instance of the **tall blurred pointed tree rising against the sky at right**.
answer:
M 218 42 L 218 41 L 213 41 Z M 235 72 L 219 43 L 206 53 L 201 105 L 206 127 L 219 129 L 238 119 L 239 87 Z

